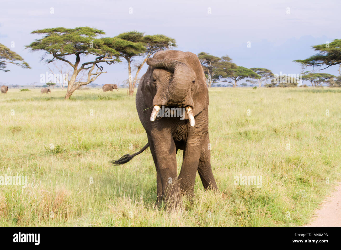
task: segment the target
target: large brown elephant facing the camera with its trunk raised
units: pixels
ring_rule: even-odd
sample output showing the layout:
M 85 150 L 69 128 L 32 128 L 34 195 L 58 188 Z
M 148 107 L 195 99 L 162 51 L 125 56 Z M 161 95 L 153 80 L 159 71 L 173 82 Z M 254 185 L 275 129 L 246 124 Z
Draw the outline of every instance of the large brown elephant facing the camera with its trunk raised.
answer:
M 196 171 L 205 189 L 218 189 L 210 163 L 206 78 L 198 57 L 191 52 L 157 52 L 147 64 L 136 93 L 136 109 L 148 143 L 139 152 L 112 163 L 124 164 L 149 146 L 157 172 L 157 202 L 176 205 L 181 193 L 193 196 Z M 159 114 L 167 108 L 171 110 L 168 115 Z M 170 113 L 173 117 L 165 117 Z M 183 162 L 178 176 L 179 149 L 183 150 Z

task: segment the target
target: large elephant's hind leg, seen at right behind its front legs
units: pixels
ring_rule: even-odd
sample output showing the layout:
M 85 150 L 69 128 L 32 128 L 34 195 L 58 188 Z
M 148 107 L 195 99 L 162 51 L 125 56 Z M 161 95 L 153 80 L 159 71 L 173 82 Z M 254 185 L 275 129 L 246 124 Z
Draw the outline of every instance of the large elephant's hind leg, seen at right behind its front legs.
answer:
M 207 134 L 205 143 L 201 149 L 199 164 L 198 164 L 198 173 L 200 179 L 203 183 L 205 190 L 207 189 L 218 189 L 216 180 L 214 179 L 212 167 L 211 167 L 211 152 L 209 149 L 209 136 Z

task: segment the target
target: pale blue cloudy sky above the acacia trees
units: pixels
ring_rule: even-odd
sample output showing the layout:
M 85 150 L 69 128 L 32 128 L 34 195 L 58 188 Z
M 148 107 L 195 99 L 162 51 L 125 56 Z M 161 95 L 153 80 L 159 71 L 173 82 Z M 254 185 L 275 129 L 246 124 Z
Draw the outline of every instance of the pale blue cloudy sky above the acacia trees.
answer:
M 340 5 L 338 0 L 6 1 L 0 9 L 0 43 L 11 48 L 14 41 L 11 50 L 24 57 L 32 69 L 8 65 L 11 71 L 1 71 L 0 82 L 39 82 L 40 74 L 52 66 L 40 61 L 42 53 L 25 49 L 25 45 L 40 37 L 31 31 L 81 26 L 101 29 L 106 32 L 104 36 L 132 30 L 164 34 L 176 39 L 177 50 L 228 55 L 237 65 L 268 68 L 273 73 L 299 73 L 301 67 L 293 60 L 313 55 L 312 45 L 340 38 Z M 50 13 L 51 7 L 54 14 Z M 133 13 L 129 14 L 129 10 Z M 247 47 L 248 42 L 251 48 Z M 102 74 L 95 81 L 97 84 L 128 78 L 124 59 L 120 64 L 103 66 L 108 73 Z M 143 67 L 140 76 L 147 67 Z M 337 69 L 332 66 L 321 72 L 338 75 Z

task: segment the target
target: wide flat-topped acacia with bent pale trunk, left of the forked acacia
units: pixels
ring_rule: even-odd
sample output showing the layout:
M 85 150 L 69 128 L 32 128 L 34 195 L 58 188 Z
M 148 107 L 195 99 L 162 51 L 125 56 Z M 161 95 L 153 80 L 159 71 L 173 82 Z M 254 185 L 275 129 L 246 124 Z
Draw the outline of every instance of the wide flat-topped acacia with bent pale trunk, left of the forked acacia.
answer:
M 68 63 L 73 68 L 65 100 L 69 99 L 79 86 L 89 84 L 95 81 L 102 73 L 106 73 L 106 71 L 102 72 L 102 66 L 100 68 L 97 64 L 103 62 L 113 64 L 115 61 L 119 61 L 117 57 L 119 54 L 112 47 L 115 42 L 119 42 L 117 41 L 118 38 L 95 38 L 98 35 L 105 34 L 102 30 L 89 27 L 74 29 L 58 27 L 35 30 L 32 31 L 32 34 L 44 34 L 44 37 L 35 39 L 26 48 L 30 48 L 31 51 L 44 51 L 42 60 L 47 63 L 60 60 Z M 93 56 L 95 59 L 80 65 L 81 57 L 83 59 L 87 56 Z M 70 58 L 72 57 L 75 57 L 74 63 L 71 62 Z M 93 73 L 95 66 L 97 70 Z M 83 82 L 77 82 L 76 78 L 82 70 L 88 72 L 88 77 Z

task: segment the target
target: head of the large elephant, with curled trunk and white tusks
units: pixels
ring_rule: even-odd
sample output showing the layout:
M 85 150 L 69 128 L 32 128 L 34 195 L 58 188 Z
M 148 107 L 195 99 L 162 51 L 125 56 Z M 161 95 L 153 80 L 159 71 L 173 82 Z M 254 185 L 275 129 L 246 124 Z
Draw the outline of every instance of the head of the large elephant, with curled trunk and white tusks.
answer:
M 191 52 L 186 52 L 187 56 L 183 57 L 175 55 L 174 59 L 169 59 L 169 56 L 163 59 L 165 54 L 155 54 L 147 60 L 152 70 L 149 85 L 154 94 L 150 121 L 155 120 L 162 105 L 184 107 L 185 119 L 189 119 L 194 127 L 194 116 L 208 105 L 208 89 L 202 66 Z

